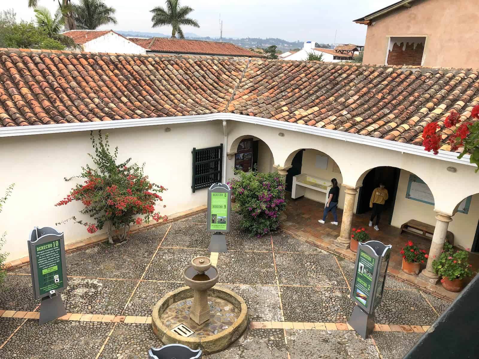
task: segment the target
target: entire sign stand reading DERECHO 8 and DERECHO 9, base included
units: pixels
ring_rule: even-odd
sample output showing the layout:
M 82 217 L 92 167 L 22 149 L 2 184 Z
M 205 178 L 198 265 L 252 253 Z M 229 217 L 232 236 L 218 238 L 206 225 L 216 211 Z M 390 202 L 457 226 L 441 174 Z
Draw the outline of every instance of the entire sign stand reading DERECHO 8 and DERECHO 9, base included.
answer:
M 229 232 L 231 189 L 227 184 L 214 183 L 208 188 L 207 230 L 211 234 L 210 252 L 228 252 L 226 232 Z

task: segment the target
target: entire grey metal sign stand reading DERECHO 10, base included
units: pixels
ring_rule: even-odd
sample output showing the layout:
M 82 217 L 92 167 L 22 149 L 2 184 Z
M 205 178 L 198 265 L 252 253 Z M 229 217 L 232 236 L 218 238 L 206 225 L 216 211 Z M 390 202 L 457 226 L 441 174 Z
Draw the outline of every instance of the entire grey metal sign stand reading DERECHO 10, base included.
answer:
M 41 299 L 39 325 L 65 314 L 60 292 L 67 288 L 67 264 L 63 233 L 54 228 L 34 227 L 28 239 L 33 294 Z

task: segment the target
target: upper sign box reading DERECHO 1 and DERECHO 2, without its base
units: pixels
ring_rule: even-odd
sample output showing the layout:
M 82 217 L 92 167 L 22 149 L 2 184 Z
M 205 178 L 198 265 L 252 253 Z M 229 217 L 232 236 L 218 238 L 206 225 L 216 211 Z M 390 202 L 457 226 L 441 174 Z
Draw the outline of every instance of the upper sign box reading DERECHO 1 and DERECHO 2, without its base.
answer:
M 368 243 L 381 245 L 377 247 L 380 253 L 376 254 Z M 381 303 L 390 251 L 391 246 L 377 241 L 361 243 L 358 247 L 351 298 L 367 313 L 372 313 Z

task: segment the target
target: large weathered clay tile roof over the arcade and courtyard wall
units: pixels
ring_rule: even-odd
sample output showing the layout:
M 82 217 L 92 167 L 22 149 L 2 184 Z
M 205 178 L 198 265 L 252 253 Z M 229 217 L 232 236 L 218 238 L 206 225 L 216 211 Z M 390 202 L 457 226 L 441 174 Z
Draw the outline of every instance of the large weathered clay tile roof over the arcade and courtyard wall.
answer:
M 0 48 L 0 127 L 233 112 L 421 145 L 478 104 L 469 68 Z

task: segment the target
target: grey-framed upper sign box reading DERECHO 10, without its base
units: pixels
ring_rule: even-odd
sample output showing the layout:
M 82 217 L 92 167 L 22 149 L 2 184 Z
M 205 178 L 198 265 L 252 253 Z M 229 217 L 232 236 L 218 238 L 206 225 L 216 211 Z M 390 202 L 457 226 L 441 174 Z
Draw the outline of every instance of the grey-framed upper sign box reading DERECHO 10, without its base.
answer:
M 34 227 L 28 240 L 28 254 L 35 299 L 68 286 L 63 233 L 50 227 Z

